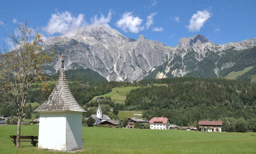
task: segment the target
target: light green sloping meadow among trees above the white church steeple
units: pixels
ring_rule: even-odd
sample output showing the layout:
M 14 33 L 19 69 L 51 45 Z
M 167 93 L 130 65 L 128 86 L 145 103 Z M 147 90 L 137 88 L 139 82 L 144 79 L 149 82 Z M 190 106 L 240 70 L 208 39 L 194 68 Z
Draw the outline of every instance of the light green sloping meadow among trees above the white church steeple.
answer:
M 122 104 L 122 103 L 125 103 L 126 94 L 130 93 L 130 91 L 132 89 L 136 89 L 136 88 L 139 88 L 139 86 L 137 86 L 137 87 L 115 87 L 115 88 L 112 88 L 112 91 L 110 93 L 107 93 L 107 94 L 101 95 L 101 96 L 95 96 L 93 99 L 95 99 L 96 97 L 111 96 L 112 101 Z M 118 91 L 118 93 L 116 91 Z

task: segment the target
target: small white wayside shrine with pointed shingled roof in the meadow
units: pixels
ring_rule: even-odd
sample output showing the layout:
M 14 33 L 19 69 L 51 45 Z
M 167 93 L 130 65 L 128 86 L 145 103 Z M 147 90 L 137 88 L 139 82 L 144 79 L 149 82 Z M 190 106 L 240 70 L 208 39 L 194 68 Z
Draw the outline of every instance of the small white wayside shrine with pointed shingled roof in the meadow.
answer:
M 35 111 L 40 113 L 38 148 L 60 151 L 83 149 L 82 113 L 86 112 L 70 92 L 62 64 L 58 83 Z

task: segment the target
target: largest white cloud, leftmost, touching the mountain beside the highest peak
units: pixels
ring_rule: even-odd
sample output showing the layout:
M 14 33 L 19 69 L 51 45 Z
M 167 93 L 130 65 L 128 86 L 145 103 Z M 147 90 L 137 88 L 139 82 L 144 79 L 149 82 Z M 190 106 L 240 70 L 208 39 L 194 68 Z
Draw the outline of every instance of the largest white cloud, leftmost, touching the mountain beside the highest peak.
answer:
M 74 17 L 70 12 L 65 11 L 52 14 L 47 26 L 43 29 L 50 35 L 60 33 L 70 38 L 81 29 L 84 29 L 86 25 L 83 14 Z

